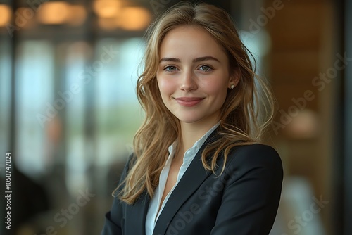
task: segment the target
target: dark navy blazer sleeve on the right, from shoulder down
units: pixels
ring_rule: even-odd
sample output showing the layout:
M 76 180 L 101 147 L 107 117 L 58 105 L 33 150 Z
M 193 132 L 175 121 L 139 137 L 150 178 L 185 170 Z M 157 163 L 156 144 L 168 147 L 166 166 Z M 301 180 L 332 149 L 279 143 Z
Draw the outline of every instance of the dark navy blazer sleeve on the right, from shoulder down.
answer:
M 269 234 L 282 189 L 282 162 L 270 146 L 242 146 L 228 158 L 222 203 L 211 235 Z

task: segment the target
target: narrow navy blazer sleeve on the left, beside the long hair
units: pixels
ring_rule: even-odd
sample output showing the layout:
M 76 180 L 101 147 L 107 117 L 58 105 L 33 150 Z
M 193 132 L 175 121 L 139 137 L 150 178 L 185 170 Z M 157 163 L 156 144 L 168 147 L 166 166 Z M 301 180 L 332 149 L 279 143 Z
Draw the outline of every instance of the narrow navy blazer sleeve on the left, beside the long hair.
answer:
M 127 172 L 130 167 L 130 162 L 133 154 L 131 154 L 127 160 L 124 170 L 122 171 L 120 182 L 125 179 L 127 176 Z M 115 195 L 118 195 L 122 186 L 119 187 L 118 191 L 116 191 Z M 122 235 L 122 226 L 123 226 L 123 213 L 122 213 L 122 202 L 118 198 L 118 196 L 114 196 L 113 205 L 111 210 L 105 215 L 105 224 L 103 226 L 103 230 L 101 231 L 101 235 Z

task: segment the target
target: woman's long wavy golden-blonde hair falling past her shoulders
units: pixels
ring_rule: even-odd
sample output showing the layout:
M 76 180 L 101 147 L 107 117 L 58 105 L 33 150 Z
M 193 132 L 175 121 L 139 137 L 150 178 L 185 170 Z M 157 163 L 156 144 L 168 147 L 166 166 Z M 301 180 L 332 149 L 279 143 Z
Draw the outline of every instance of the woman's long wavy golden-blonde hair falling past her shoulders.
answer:
M 125 180 L 115 190 L 120 200 L 128 204 L 133 204 L 144 191 L 153 196 L 168 158 L 168 146 L 180 133 L 180 121 L 161 99 L 156 73 L 163 38 L 170 30 L 182 25 L 197 25 L 208 31 L 226 51 L 230 72 L 239 73 L 239 83 L 234 89 L 228 89 L 220 110 L 217 129 L 220 138 L 201 153 L 203 167 L 215 173 L 216 161 L 224 155 L 223 171 L 230 150 L 234 146 L 260 141 L 273 117 L 274 102 L 270 89 L 254 72 L 249 57 L 252 55 L 241 42 L 230 15 L 208 4 L 181 2 L 173 6 L 146 31 L 144 71 L 137 81 L 137 96 L 146 115 L 134 136 L 133 164 L 130 164 Z

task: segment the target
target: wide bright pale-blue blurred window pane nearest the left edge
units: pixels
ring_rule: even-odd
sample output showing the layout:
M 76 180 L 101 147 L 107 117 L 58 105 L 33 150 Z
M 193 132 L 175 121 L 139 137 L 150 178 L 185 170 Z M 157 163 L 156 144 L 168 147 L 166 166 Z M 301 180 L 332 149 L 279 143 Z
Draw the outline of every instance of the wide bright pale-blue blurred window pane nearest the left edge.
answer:
M 37 176 L 44 172 L 46 127 L 54 118 L 54 53 L 47 41 L 24 41 L 18 46 L 17 86 L 17 156 L 20 170 Z

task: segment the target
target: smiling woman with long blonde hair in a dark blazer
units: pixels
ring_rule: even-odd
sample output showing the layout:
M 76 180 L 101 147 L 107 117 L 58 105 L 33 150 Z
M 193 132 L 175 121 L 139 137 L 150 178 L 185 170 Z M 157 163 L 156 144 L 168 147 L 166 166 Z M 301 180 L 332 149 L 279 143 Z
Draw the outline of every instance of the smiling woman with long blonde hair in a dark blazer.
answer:
M 258 143 L 272 95 L 230 16 L 182 2 L 147 39 L 137 82 L 146 118 L 102 234 L 268 234 L 282 163 Z

